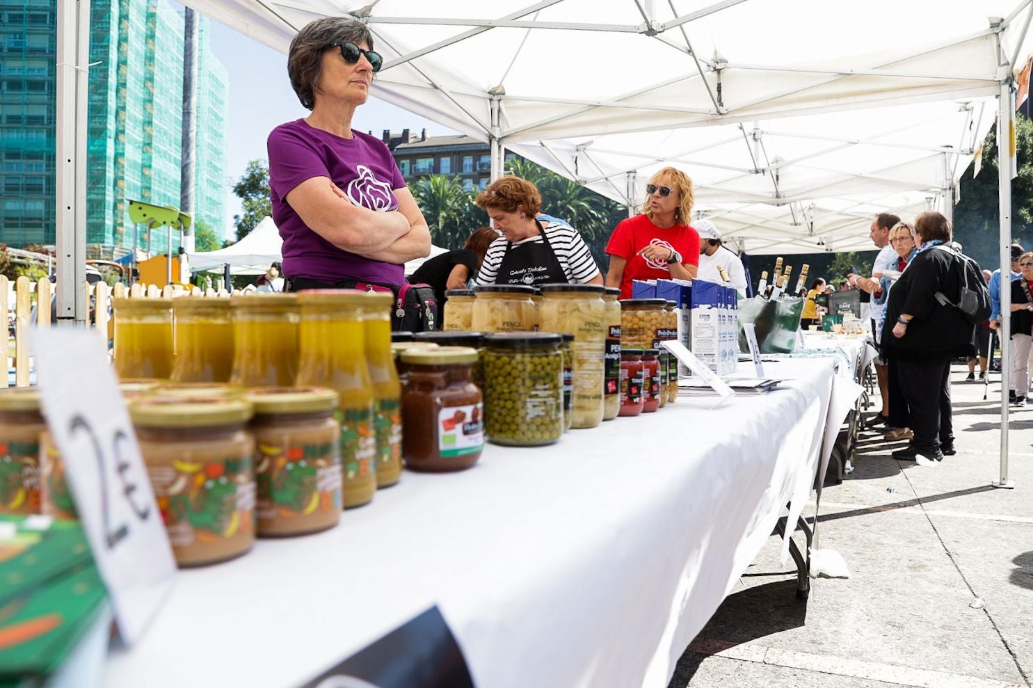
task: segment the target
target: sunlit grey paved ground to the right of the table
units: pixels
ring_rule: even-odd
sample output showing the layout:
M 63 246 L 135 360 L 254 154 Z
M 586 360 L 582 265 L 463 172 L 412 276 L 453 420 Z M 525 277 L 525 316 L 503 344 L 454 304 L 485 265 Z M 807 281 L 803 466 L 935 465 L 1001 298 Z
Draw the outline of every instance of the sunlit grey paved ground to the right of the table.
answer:
M 957 456 L 897 462 L 898 445 L 864 433 L 853 474 L 824 491 L 820 544 L 850 577 L 796 600 L 773 537 L 669 688 L 1033 686 L 1033 407 L 1012 407 L 1015 489 L 994 489 L 1000 384 L 992 374 L 982 401 L 966 374 L 952 374 Z

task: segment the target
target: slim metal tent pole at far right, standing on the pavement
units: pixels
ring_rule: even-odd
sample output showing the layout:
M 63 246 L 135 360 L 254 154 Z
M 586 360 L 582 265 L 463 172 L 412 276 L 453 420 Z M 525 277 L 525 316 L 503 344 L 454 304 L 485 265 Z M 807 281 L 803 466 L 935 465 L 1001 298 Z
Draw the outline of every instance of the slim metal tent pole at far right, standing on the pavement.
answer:
M 1015 101 L 1010 69 L 1001 81 L 997 113 L 998 205 L 1001 218 L 1001 475 L 995 488 L 1014 488 L 1008 479 L 1008 378 L 1011 375 L 1011 153 L 1015 147 Z M 1023 389 L 1028 394 L 1028 389 Z

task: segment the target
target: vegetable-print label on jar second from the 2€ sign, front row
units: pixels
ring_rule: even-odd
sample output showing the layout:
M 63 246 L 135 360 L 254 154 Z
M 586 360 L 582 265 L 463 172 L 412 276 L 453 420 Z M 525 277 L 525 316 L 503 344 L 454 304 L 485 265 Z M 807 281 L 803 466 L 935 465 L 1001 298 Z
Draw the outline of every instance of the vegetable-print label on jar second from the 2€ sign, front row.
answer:
M 259 444 L 258 518 L 293 519 L 341 510 L 341 458 L 334 442 Z

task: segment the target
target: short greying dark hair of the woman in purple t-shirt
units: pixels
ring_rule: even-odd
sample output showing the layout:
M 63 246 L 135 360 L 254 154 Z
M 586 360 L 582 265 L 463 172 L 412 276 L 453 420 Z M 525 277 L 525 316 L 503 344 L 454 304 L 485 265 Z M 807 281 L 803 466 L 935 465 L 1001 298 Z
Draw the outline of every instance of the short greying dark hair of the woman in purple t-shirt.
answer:
M 309 22 L 290 41 L 287 51 L 287 75 L 302 105 L 312 110 L 322 74 L 322 56 L 331 43 L 350 40 L 366 43 L 373 50 L 373 35 L 364 22 L 351 17 L 324 17 Z

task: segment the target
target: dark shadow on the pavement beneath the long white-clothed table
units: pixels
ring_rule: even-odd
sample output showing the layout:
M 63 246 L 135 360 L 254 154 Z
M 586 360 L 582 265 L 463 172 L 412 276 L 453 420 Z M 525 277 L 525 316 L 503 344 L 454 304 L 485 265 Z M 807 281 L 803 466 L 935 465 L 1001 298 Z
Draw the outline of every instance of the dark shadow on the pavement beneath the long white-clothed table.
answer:
M 782 575 L 746 573 L 747 576 Z M 799 628 L 807 620 L 807 602 L 796 599 L 795 571 L 788 581 L 754 586 L 728 595 L 700 631 L 699 638 L 718 638 L 722 644 L 742 645 L 765 635 Z M 686 650 L 669 686 L 685 686 L 695 676 L 707 655 Z

